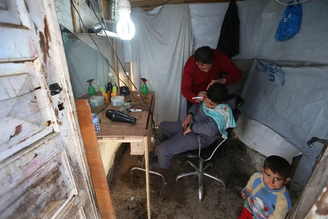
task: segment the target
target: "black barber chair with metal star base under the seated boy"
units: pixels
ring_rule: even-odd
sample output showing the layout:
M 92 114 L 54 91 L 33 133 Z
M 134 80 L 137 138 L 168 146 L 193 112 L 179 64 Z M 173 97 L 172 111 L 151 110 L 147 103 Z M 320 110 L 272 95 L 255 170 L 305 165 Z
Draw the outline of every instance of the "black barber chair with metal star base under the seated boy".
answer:
M 244 100 L 238 95 L 229 95 L 228 100 L 225 103 L 228 104 L 231 107 L 231 109 L 233 110 L 233 115 L 234 115 L 235 121 L 237 122 L 237 120 L 241 114 L 239 107 L 243 105 Z M 231 138 L 231 133 L 233 131 L 233 127 L 227 129 L 226 131 L 228 133 L 228 138 Z M 205 172 L 205 170 L 208 167 L 213 166 L 213 163 L 210 163 L 210 162 L 205 165 L 205 161 L 208 161 L 211 158 L 213 158 L 215 152 L 221 147 L 222 144 L 224 144 L 227 141 L 227 138 L 223 139 L 223 138 L 219 137 L 209 147 L 201 149 L 201 141 L 200 141 L 201 137 L 202 137 L 202 135 L 198 135 L 199 150 L 191 150 L 191 151 L 187 151 L 187 152 L 180 154 L 183 157 L 189 158 L 189 159 L 199 157 L 198 167 L 196 165 L 194 165 L 194 163 L 192 163 L 191 161 L 186 160 L 186 163 L 188 163 L 191 167 L 195 168 L 195 171 L 188 172 L 188 173 L 181 173 L 176 178 L 176 181 L 178 181 L 180 178 L 182 178 L 184 176 L 198 175 L 198 198 L 199 198 L 199 201 L 201 201 L 203 199 L 203 178 L 202 178 L 203 176 L 208 176 L 212 179 L 219 181 L 222 184 L 222 186 L 225 188 L 225 183 L 221 178 L 210 175 Z

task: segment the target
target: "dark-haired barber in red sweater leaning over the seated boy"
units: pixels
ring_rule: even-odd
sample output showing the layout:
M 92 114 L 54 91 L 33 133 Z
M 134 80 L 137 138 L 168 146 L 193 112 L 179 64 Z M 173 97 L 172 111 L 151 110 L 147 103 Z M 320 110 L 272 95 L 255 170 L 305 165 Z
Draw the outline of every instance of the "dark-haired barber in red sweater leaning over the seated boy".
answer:
M 224 78 L 219 78 L 225 72 Z M 224 53 L 209 46 L 202 46 L 195 51 L 186 62 L 181 84 L 181 93 L 187 99 L 187 112 L 194 103 L 203 99 L 192 100 L 193 97 L 205 98 L 207 88 L 215 82 L 229 85 L 242 77 L 242 71 Z

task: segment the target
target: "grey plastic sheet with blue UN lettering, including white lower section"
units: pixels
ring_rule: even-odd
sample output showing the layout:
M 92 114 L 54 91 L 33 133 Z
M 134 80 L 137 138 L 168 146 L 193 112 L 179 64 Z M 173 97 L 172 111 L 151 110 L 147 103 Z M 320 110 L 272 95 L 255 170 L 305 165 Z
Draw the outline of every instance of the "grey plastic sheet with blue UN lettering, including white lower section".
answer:
M 236 133 L 242 141 L 266 156 L 291 161 L 298 150 L 305 155 L 292 181 L 294 191 L 305 185 L 322 149 L 317 142 L 308 147 L 307 141 L 328 138 L 327 71 L 327 65 L 280 67 L 255 60 L 241 94 L 246 118 L 238 121 Z

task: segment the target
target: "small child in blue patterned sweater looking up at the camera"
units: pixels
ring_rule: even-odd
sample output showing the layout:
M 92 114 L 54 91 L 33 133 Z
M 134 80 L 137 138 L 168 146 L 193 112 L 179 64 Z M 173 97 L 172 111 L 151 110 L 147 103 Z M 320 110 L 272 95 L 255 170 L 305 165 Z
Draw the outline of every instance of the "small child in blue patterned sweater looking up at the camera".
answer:
M 263 172 L 254 173 L 241 196 L 246 199 L 239 219 L 283 219 L 292 207 L 291 197 L 284 184 L 289 177 L 291 165 L 279 156 L 269 156 L 262 167 Z

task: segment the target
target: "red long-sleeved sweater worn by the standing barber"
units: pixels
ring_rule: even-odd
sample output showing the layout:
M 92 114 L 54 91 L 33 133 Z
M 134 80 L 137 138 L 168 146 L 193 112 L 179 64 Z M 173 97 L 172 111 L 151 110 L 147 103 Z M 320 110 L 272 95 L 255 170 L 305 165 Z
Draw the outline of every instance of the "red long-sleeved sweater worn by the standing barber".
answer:
M 226 54 L 213 49 L 214 62 L 211 69 L 205 73 L 196 64 L 195 56 L 192 55 L 183 68 L 181 93 L 190 102 L 196 103 L 192 97 L 206 90 L 207 85 L 215 79 L 219 79 L 221 71 L 226 72 L 226 85 L 237 82 L 242 77 L 242 71 L 233 63 Z

